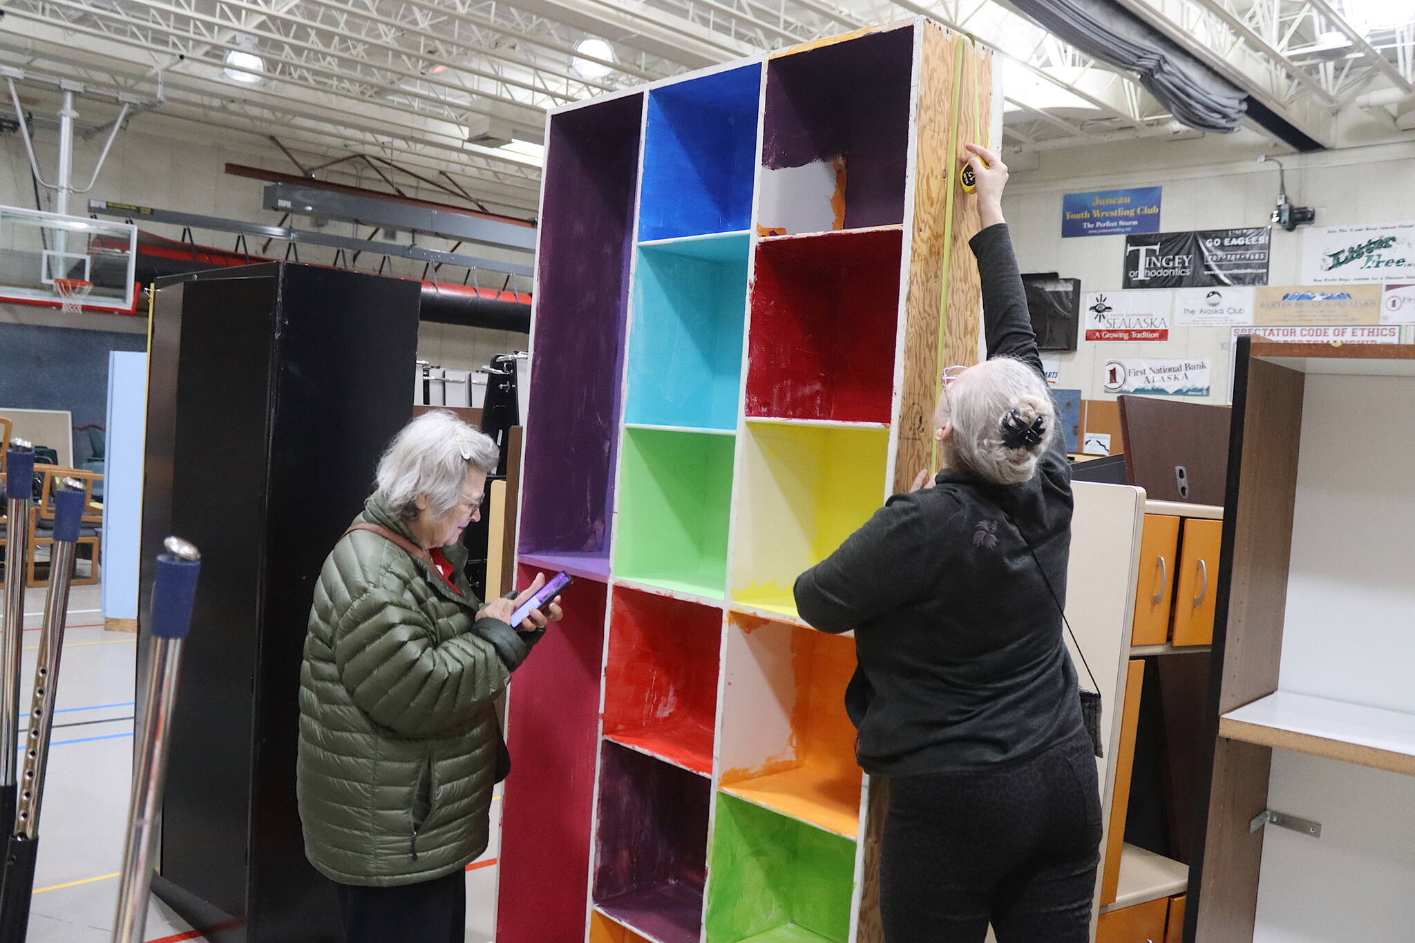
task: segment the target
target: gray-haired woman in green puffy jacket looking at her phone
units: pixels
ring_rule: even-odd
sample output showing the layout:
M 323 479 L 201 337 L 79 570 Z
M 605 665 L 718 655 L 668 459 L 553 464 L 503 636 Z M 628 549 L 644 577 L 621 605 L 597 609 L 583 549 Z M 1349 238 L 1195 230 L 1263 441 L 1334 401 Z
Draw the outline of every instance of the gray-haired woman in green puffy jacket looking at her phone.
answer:
M 495 465 L 495 444 L 451 413 L 410 421 L 314 590 L 297 792 L 347 943 L 466 935 L 463 872 L 509 769 L 494 703 L 560 618 L 550 605 L 512 628 L 514 602 L 483 605 L 467 582 L 460 539 Z

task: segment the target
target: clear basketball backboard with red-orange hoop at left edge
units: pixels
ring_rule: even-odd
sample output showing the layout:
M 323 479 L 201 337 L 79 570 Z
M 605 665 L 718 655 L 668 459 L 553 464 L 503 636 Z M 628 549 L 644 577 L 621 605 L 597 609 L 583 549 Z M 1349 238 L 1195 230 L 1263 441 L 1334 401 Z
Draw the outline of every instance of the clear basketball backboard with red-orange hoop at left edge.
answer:
M 137 228 L 0 206 L 0 301 L 62 305 L 64 280 L 92 283 L 83 307 L 132 312 Z

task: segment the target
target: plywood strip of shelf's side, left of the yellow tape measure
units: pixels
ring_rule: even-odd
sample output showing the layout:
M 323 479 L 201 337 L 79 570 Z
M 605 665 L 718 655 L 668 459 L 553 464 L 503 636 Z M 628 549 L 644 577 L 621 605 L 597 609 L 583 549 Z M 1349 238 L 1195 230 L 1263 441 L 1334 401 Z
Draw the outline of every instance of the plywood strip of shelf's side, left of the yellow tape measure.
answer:
M 904 295 L 904 369 L 899 403 L 894 491 L 908 491 L 930 468 L 934 400 L 938 396 L 940 310 L 945 290 L 948 189 L 957 171 L 949 160 L 957 45 L 942 27 L 923 25 L 918 75 L 918 140 L 914 154 L 914 225 L 908 287 Z

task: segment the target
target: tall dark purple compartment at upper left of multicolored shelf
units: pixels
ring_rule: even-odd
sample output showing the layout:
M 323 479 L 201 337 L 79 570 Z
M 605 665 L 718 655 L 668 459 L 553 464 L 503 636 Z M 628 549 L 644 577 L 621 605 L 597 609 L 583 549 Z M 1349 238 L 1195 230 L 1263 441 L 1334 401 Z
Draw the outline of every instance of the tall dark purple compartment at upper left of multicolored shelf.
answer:
M 519 550 L 606 575 L 642 113 L 560 112 L 546 140 Z

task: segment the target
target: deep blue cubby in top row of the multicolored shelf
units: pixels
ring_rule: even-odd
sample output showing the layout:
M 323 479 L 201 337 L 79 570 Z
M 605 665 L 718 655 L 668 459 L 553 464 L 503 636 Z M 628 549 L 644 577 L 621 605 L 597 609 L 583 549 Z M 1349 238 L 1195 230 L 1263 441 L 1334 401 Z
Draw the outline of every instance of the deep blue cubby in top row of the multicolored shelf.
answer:
M 757 64 L 649 92 L 640 239 L 747 229 L 760 92 Z

